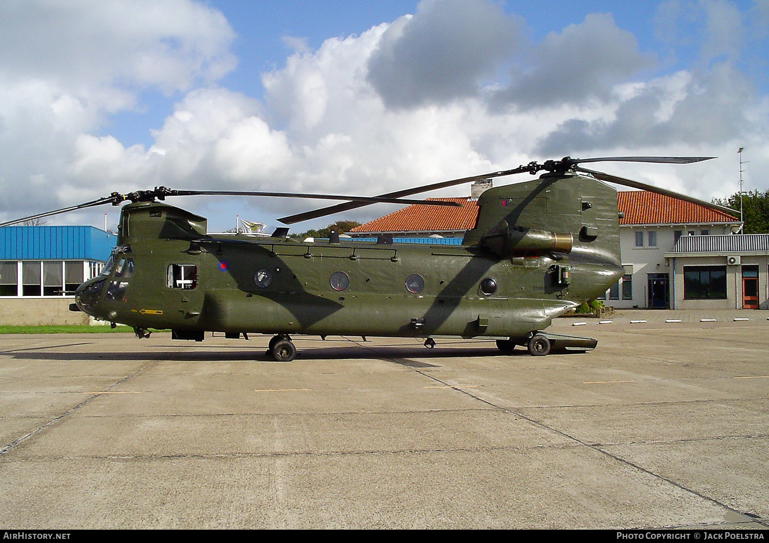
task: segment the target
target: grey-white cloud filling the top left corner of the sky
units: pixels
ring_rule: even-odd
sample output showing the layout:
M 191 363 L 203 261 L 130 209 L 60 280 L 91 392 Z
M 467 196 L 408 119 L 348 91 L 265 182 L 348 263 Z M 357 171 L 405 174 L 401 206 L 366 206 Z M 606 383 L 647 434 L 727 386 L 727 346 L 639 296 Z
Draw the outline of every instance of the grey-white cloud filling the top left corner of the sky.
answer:
M 83 91 L 128 84 L 172 92 L 235 67 L 234 32 L 198 2 L 9 0 L 0 14 L 0 70 L 17 78 Z

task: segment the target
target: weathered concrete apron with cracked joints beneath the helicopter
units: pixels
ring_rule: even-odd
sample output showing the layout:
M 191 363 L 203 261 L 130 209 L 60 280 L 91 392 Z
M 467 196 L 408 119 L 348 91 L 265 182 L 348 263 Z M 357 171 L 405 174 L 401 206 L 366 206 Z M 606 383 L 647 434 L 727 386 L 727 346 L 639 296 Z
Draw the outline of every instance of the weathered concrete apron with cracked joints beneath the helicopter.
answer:
M 561 318 L 598 348 L 546 357 L 0 336 L 0 529 L 766 529 L 767 316 Z

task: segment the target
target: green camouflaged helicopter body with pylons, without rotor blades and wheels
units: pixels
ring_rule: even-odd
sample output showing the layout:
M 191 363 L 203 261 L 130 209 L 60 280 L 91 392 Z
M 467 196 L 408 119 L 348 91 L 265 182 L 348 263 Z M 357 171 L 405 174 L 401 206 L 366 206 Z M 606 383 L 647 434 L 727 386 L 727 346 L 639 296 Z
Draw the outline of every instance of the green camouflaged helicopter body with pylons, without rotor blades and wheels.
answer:
M 613 189 L 585 180 L 593 193 L 598 183 L 611 194 L 600 188 L 574 203 L 574 188 L 548 197 L 554 181 L 485 193 L 478 228 L 462 246 L 209 235 L 204 218 L 179 208 L 126 205 L 115 265 L 78 289 L 78 305 L 136 328 L 521 338 L 598 297 L 623 272 Z M 531 194 L 522 185 L 537 183 L 548 187 L 538 199 L 516 199 Z M 503 219 L 574 232 L 574 245 L 564 253 L 513 247 L 500 256 L 482 234 Z

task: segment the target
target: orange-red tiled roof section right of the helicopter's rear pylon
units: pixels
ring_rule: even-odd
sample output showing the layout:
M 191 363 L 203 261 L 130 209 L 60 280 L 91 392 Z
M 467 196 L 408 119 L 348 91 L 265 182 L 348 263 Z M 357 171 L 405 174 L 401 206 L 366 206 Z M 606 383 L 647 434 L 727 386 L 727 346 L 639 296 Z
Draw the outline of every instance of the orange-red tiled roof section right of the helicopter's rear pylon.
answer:
M 617 207 L 625 214 L 620 219 L 621 225 L 679 225 L 740 220 L 703 205 L 648 191 L 618 191 Z

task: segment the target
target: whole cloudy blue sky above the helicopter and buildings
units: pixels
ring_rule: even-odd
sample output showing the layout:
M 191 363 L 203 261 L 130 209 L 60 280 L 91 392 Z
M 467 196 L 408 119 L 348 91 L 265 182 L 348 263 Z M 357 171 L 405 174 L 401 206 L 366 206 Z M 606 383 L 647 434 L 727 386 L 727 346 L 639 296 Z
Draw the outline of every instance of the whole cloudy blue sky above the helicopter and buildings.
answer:
M 565 155 L 715 156 L 598 168 L 705 200 L 737 192 L 741 157 L 763 192 L 767 62 L 769 0 L 5 0 L 0 221 L 158 185 L 377 195 Z M 320 207 L 172 203 L 210 232 Z M 45 220 L 105 213 L 114 229 L 111 206 Z

